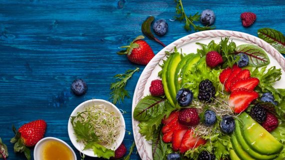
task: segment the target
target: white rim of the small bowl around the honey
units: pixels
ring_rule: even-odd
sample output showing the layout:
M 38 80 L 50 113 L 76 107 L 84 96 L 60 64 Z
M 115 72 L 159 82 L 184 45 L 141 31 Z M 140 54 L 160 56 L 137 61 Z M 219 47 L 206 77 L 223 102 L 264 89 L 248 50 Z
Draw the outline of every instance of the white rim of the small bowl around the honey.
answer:
M 55 140 L 55 141 L 58 141 L 58 142 L 61 142 L 62 144 L 64 144 L 65 146 L 67 146 L 70 151 L 72 152 L 72 155 L 73 155 L 73 159 L 74 160 L 77 160 L 76 158 L 76 154 L 74 152 L 74 150 L 63 140 L 61 139 L 58 139 L 58 138 L 55 138 L 55 137 L 44 137 L 42 139 L 40 139 L 34 146 L 34 150 L 33 150 L 33 159 L 34 160 L 40 160 L 42 159 L 42 147 L 44 146 L 44 143 L 50 141 L 50 140 Z

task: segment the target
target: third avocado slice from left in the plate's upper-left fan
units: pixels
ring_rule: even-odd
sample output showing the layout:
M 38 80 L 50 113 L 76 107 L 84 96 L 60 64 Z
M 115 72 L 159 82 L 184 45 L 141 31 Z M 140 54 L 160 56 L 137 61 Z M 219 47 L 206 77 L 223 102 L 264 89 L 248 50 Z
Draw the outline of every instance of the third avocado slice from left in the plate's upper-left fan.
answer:
M 179 62 L 178 66 L 176 67 L 175 70 L 175 77 L 174 77 L 174 83 L 175 83 L 175 91 L 177 93 L 177 91 L 180 89 L 180 83 L 181 83 L 181 76 L 182 76 L 182 72 L 183 69 L 185 68 L 185 64 L 188 63 L 189 60 L 191 60 L 193 57 L 195 56 L 194 53 L 190 53 L 185 55 L 181 61 Z

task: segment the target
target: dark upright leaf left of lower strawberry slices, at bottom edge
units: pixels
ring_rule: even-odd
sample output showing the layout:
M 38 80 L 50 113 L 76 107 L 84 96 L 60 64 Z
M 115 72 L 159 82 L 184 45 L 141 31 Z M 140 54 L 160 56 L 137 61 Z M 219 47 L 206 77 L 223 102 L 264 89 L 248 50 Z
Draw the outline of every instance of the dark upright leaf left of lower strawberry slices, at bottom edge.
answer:
M 153 160 L 163 160 L 165 157 L 167 144 L 162 141 L 161 127 L 154 131 L 152 139 Z

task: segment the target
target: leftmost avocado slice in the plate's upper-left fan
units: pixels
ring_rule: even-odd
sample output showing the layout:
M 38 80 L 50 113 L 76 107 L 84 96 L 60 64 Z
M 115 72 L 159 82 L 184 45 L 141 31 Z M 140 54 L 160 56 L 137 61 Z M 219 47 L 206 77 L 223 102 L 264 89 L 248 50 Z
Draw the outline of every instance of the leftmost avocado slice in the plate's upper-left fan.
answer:
M 162 79 L 162 85 L 163 85 L 165 96 L 166 96 L 167 100 L 169 101 L 169 103 L 172 106 L 174 106 L 174 102 L 170 96 L 170 92 L 169 92 L 169 88 L 168 88 L 168 84 L 167 84 L 168 66 L 169 66 L 169 63 L 170 63 L 172 57 L 173 57 L 173 54 L 170 54 L 169 57 L 167 58 L 167 60 L 164 62 L 164 66 L 163 66 L 162 74 L 161 74 L 161 79 Z

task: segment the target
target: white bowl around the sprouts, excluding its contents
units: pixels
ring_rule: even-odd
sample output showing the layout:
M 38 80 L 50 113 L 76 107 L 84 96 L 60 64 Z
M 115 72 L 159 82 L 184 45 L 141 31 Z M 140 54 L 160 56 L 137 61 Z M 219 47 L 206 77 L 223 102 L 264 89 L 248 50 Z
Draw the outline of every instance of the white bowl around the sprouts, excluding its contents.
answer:
M 116 149 L 118 148 L 118 146 L 121 144 L 123 138 L 124 138 L 124 133 L 125 133 L 125 123 L 124 123 L 124 119 L 123 119 L 123 116 L 122 116 L 122 113 L 120 112 L 120 110 L 114 105 L 112 104 L 111 102 L 108 102 L 106 100 L 103 100 L 103 99 L 90 99 L 90 100 L 87 100 L 87 101 L 84 101 L 82 102 L 81 104 L 79 104 L 71 113 L 70 116 L 76 116 L 77 115 L 77 112 L 81 112 L 85 109 L 85 107 L 88 107 L 90 105 L 100 105 L 100 104 L 103 104 L 105 105 L 106 109 L 109 110 L 109 111 L 112 111 L 112 112 L 116 112 L 119 117 L 120 117 L 120 133 L 119 133 L 119 136 L 118 138 L 116 139 L 114 145 L 112 146 L 112 148 Z M 72 127 L 72 124 L 70 122 L 70 117 L 69 117 L 69 120 L 68 120 L 68 126 L 67 126 L 67 129 L 68 129 L 68 135 L 69 135 L 69 138 L 72 142 L 72 144 L 74 145 L 74 147 L 79 150 L 81 153 L 85 154 L 85 155 L 88 155 L 88 156 L 92 156 L 92 157 L 97 157 L 96 154 L 94 154 L 93 150 L 92 149 L 86 149 L 86 150 L 83 150 L 84 146 L 81 142 L 77 142 L 76 141 L 76 136 L 74 134 L 74 129 Z

